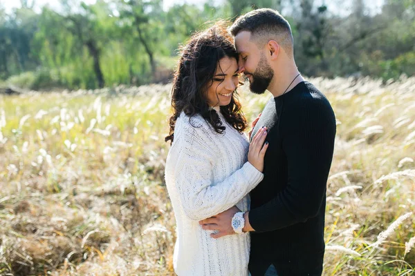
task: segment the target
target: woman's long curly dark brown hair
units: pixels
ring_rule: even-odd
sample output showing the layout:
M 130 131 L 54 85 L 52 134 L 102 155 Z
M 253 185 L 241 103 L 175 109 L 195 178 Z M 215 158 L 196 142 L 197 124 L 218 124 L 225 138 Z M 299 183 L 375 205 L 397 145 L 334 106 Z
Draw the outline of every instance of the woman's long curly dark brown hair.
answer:
M 207 91 L 219 60 L 230 57 L 238 60 L 238 52 L 225 28 L 225 21 L 217 22 L 208 30 L 194 34 L 182 48 L 181 57 L 174 73 L 172 88 L 173 115 L 169 118 L 170 132 L 165 141 L 174 139 L 174 126 L 182 110 L 185 115 L 201 115 L 218 133 L 225 131 L 221 119 L 208 105 Z M 221 106 L 225 120 L 239 132 L 246 129 L 246 118 L 241 112 L 237 90 L 232 93 L 228 106 Z

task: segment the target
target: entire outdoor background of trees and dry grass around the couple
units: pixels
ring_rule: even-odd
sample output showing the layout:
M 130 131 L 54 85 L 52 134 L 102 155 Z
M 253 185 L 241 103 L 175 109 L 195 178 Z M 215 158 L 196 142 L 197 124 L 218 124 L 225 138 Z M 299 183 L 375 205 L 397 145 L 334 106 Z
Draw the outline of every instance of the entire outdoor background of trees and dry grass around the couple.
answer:
M 414 0 L 0 0 L 1 276 L 174 275 L 177 49 L 257 7 L 336 116 L 323 275 L 415 275 Z

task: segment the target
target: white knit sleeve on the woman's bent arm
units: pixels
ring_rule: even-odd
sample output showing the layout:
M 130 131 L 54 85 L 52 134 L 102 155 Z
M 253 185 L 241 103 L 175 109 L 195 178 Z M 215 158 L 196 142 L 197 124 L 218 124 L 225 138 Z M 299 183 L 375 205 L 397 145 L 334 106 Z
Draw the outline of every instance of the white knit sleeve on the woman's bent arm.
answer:
M 185 125 L 176 145 L 175 185 L 185 215 L 193 220 L 228 210 L 264 178 L 262 172 L 246 162 L 223 181 L 214 183 L 214 145 L 209 141 L 209 133 L 212 135 L 212 130 L 205 126 Z

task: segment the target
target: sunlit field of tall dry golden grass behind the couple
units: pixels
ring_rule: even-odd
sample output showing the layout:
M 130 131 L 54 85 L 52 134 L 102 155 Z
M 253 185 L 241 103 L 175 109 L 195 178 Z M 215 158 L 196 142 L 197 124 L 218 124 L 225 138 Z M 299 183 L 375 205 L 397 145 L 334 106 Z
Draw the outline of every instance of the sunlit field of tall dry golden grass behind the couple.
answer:
M 338 121 L 324 275 L 415 275 L 415 78 L 311 81 Z M 0 275 L 174 275 L 169 88 L 0 95 Z M 241 92 L 250 121 L 269 97 Z

